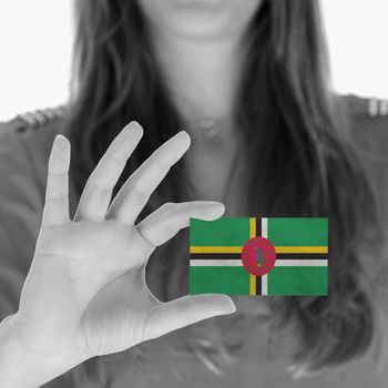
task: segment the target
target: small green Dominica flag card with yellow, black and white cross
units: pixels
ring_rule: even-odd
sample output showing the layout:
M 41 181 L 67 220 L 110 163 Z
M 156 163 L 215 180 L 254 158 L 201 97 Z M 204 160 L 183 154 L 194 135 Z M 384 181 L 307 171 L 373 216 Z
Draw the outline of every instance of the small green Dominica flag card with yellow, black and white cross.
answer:
M 190 221 L 190 293 L 327 295 L 328 219 Z

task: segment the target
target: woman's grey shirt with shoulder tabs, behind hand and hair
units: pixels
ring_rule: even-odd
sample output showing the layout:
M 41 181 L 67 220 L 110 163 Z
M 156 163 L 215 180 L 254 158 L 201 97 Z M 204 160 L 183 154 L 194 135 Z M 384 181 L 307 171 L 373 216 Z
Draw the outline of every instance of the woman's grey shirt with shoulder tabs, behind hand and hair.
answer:
M 372 180 L 380 210 L 388 219 L 387 104 L 354 95 L 338 98 L 338 103 L 350 112 L 351 136 Z M 0 319 L 18 309 L 23 280 L 33 257 L 44 203 L 48 159 L 53 139 L 61 132 L 60 116 L 59 111 L 40 111 L 0 124 Z M 70 180 L 71 214 L 78 200 Z M 233 327 L 227 341 L 233 343 L 235 336 L 246 336 L 246 333 L 251 338 L 235 351 L 235 360 L 224 367 L 222 375 L 214 368 L 212 371 L 201 357 L 186 350 L 184 329 L 181 329 L 127 350 L 131 363 L 129 358 L 125 363 L 123 354 L 100 357 L 103 369 L 114 375 L 114 382 L 109 387 L 387 387 L 388 370 L 375 371 L 370 356 L 341 371 L 293 380 L 286 370 L 296 340 L 293 335 L 275 335 L 275 345 L 269 347 L 269 328 L 265 319 L 252 316 L 215 319 Z M 205 326 L 202 329 L 206 329 L 206 323 L 196 327 L 201 329 L 202 325 Z M 388 365 L 388 360 L 384 363 Z M 47 387 L 100 387 L 82 380 L 83 367 L 74 368 L 67 376 L 79 382 L 60 377 Z

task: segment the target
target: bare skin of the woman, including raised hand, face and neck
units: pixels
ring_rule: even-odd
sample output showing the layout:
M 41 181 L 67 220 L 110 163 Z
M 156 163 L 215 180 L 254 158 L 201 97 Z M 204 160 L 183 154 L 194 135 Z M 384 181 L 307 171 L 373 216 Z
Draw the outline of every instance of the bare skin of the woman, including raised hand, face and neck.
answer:
M 195 147 L 187 155 L 188 173 L 203 183 L 200 188 L 207 200 L 225 187 L 235 151 L 231 145 L 238 144 L 229 112 L 241 71 L 239 43 L 259 3 L 140 1 L 182 116 L 216 116 L 225 123 L 216 142 L 206 144 L 201 134 L 191 133 Z M 0 324 L 2 387 L 38 387 L 91 357 L 235 312 L 226 295 L 161 303 L 147 288 L 144 270 L 152 252 L 187 227 L 190 217 L 216 219 L 225 206 L 210 201 L 167 203 L 134 225 L 152 192 L 188 150 L 191 136 L 183 131 L 129 177 L 110 205 L 142 133 L 131 123 L 113 141 L 84 187 L 74 219 L 69 217 L 70 143 L 55 137 L 42 225 L 20 307 Z

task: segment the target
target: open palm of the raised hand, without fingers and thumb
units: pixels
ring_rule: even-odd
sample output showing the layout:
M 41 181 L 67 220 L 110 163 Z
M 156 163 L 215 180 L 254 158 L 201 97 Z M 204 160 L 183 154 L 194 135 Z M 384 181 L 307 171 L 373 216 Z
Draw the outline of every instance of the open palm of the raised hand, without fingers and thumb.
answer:
M 21 307 L 33 305 L 35 317 L 48 327 L 61 328 L 69 341 L 75 331 L 76 351 L 101 355 L 135 345 L 142 340 L 147 310 L 159 303 L 144 279 L 145 262 L 153 249 L 134 227 L 115 221 L 43 228 Z M 44 297 L 52 282 L 48 273 L 57 274 L 55 297 L 49 300 Z M 37 284 L 41 297 L 32 303 L 29 295 L 37 294 Z M 45 310 L 57 306 L 61 306 L 61 314 L 48 319 Z M 53 347 L 57 336 L 53 333 Z

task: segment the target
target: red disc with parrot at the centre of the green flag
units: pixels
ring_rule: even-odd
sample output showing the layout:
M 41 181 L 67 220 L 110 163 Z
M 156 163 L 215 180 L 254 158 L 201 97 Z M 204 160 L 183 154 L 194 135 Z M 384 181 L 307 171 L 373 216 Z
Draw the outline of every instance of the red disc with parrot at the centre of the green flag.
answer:
M 243 246 L 242 262 L 249 274 L 255 276 L 266 275 L 275 266 L 275 247 L 265 237 L 252 237 Z

